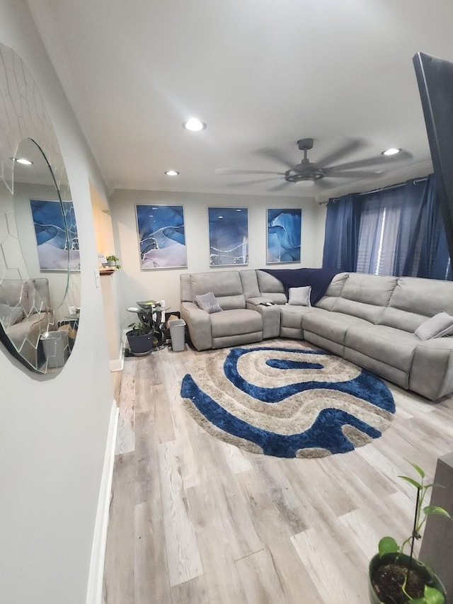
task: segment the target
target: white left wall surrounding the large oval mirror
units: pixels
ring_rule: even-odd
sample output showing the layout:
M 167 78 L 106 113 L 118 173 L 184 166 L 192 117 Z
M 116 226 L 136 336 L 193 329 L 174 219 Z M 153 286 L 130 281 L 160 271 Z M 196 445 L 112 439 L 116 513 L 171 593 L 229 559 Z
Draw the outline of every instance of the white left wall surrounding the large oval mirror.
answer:
M 12 47 L 45 100 L 67 166 L 81 249 L 81 321 L 54 380 L 0 346 L 0 600 L 81 604 L 113 394 L 88 178 L 105 186 L 38 36 L 25 0 L 0 0 L 0 42 Z M 107 195 L 105 194 L 105 197 Z

